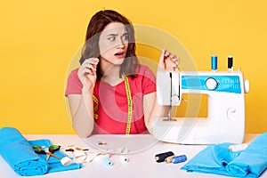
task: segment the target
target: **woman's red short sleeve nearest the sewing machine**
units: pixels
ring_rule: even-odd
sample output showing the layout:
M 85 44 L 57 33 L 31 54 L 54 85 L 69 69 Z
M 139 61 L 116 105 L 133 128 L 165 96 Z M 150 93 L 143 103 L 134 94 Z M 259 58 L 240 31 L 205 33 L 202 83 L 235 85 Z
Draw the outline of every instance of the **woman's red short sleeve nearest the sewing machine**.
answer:
M 156 92 L 156 77 L 149 67 L 143 69 L 142 93 Z

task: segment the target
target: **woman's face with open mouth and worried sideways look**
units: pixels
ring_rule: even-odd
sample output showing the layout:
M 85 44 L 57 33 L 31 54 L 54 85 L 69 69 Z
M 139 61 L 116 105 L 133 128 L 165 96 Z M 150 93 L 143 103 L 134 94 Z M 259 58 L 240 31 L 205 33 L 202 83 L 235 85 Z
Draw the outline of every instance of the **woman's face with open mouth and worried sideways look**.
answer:
M 109 23 L 99 39 L 101 58 L 111 64 L 120 65 L 125 60 L 128 48 L 128 33 L 120 22 Z

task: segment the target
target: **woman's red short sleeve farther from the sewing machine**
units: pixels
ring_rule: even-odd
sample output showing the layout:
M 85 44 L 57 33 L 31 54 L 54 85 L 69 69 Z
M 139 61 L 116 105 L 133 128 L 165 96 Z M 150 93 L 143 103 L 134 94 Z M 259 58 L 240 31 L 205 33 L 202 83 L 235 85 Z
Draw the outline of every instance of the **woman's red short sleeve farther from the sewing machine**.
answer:
M 70 72 L 68 81 L 67 81 L 67 87 L 65 91 L 65 96 L 68 96 L 69 94 L 81 94 L 83 84 L 79 80 L 77 76 L 78 69 L 74 69 Z

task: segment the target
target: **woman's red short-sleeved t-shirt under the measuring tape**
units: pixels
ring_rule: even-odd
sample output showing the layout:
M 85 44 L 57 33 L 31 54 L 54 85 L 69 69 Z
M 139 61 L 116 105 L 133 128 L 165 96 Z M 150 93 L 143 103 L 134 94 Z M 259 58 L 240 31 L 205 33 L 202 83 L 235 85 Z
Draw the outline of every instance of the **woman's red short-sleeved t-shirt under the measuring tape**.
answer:
M 82 83 L 74 69 L 69 74 L 65 95 L 81 94 Z M 128 77 L 133 103 L 133 116 L 130 134 L 142 134 L 147 131 L 144 124 L 143 95 L 156 92 L 156 77 L 146 66 L 141 65 L 136 71 L 136 77 Z M 93 95 L 98 100 L 98 109 L 94 112 L 94 134 L 125 134 L 128 120 L 128 101 L 125 82 L 118 85 L 97 80 Z M 94 105 L 96 103 L 94 102 Z

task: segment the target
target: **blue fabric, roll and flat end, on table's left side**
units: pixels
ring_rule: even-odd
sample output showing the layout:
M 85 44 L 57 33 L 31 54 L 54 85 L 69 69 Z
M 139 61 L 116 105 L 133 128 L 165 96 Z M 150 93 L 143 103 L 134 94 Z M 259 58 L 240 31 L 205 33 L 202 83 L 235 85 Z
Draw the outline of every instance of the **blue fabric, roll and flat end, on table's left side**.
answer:
M 42 175 L 82 167 L 82 164 L 76 163 L 62 166 L 60 159 L 53 157 L 46 162 L 46 155 L 36 154 L 32 149 L 33 145 L 48 148 L 52 142 L 45 139 L 28 142 L 15 128 L 3 127 L 0 129 L 0 155 L 17 174 L 22 176 Z M 60 158 L 66 157 L 61 150 L 55 151 L 54 154 Z

